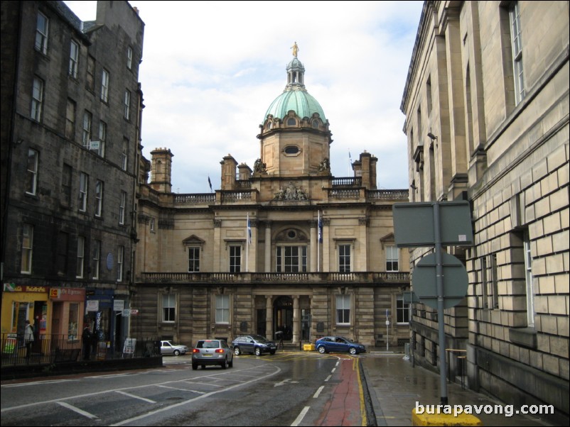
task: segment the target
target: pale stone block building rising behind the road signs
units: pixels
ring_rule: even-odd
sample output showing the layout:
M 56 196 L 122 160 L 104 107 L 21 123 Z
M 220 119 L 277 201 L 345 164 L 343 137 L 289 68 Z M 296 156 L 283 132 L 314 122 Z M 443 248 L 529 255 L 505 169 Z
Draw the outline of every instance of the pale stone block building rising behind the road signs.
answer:
M 458 373 L 465 355 L 469 387 L 567 417 L 569 3 L 426 1 L 401 108 L 410 201 L 468 200 L 475 237 L 447 248 L 464 303 L 440 319 L 414 304 L 416 361 Z

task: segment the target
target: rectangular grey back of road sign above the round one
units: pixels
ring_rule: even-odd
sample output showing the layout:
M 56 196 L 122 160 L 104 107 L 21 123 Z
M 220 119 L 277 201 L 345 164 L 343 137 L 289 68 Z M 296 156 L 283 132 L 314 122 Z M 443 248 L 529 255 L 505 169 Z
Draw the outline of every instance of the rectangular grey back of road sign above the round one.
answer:
M 398 247 L 433 246 L 434 205 L 439 204 L 441 245 L 473 245 L 473 228 L 468 201 L 394 203 L 394 239 Z

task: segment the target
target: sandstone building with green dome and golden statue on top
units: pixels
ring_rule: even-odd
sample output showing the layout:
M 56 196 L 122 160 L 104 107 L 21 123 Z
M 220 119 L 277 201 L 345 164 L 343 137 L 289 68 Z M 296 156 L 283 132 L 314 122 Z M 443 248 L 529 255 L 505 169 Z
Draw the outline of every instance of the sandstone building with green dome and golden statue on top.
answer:
M 151 153 L 151 180 L 139 188 L 134 336 L 408 339 L 409 258 L 394 244 L 392 204 L 409 194 L 377 189 L 380 162 L 365 151 L 353 177 L 332 176 L 332 133 L 296 53 L 284 91 L 259 113 L 253 167 L 225 155 L 220 189 L 174 194 L 173 153 Z

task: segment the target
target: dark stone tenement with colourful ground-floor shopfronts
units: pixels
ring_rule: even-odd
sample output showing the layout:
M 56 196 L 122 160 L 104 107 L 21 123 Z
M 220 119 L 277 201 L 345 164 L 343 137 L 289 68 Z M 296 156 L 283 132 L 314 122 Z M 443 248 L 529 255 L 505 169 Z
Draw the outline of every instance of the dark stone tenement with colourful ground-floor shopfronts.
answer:
M 36 354 L 87 324 L 106 351 L 129 328 L 144 23 L 127 1 L 89 22 L 62 1 L 1 9 L 3 354 L 26 320 Z

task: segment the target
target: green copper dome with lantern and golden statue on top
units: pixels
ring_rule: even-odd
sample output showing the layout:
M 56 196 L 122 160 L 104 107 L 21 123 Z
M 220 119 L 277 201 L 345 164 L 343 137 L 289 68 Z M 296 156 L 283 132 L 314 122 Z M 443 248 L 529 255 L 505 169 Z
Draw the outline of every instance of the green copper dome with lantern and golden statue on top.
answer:
M 295 111 L 300 118 L 311 117 L 313 113 L 318 113 L 321 120 L 326 121 L 321 104 L 318 104 L 318 101 L 305 89 L 305 67 L 296 57 L 298 50 L 299 48 L 295 43 L 295 57 L 287 65 L 287 86 L 283 93 L 271 102 L 263 118 L 264 121 L 269 114 L 275 118 L 283 119 L 290 110 Z

